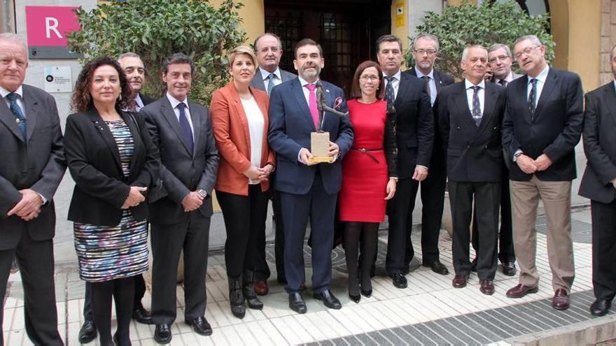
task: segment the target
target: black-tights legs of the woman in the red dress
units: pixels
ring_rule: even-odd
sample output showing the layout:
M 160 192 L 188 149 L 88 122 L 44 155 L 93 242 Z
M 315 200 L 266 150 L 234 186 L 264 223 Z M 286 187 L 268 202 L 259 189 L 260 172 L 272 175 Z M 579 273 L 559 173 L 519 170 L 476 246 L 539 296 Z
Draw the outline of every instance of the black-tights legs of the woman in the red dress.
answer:
M 378 222 L 346 222 L 344 227 L 344 251 L 346 256 L 346 270 L 349 271 L 349 294 L 359 294 L 359 281 L 361 277 L 361 289 L 372 289 L 370 282 L 370 269 L 374 262 L 374 254 L 377 252 Z M 358 275 L 359 247 L 361 246 L 361 271 Z

